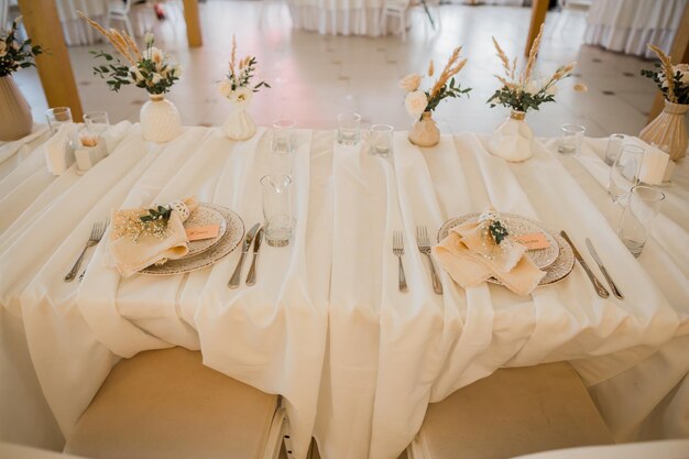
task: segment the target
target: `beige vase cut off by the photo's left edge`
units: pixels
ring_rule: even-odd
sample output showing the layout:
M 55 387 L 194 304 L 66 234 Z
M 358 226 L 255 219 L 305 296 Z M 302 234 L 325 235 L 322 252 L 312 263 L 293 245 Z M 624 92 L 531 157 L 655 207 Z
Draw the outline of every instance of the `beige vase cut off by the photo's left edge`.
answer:
M 0 141 L 21 139 L 31 133 L 31 108 L 10 75 L 0 77 Z

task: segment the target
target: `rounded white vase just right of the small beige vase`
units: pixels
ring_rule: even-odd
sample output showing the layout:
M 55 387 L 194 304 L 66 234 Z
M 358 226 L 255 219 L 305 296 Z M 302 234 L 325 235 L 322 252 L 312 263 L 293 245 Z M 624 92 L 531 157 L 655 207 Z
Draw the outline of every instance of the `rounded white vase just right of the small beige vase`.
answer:
M 511 163 L 520 163 L 533 156 L 534 132 L 524 121 L 525 117 L 525 112 L 512 110 L 510 118 L 495 128 L 488 142 L 491 154 Z

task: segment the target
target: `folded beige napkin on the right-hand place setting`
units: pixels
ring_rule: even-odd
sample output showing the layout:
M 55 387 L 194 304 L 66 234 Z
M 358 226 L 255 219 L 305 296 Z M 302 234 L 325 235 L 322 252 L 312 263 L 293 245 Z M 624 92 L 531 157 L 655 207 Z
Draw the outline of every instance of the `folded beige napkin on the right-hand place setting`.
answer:
M 526 248 L 510 237 L 500 245 L 486 238 L 488 222 L 470 221 L 452 228 L 433 252 L 452 280 L 472 287 L 495 277 L 517 295 L 528 295 L 546 275 L 526 256 Z

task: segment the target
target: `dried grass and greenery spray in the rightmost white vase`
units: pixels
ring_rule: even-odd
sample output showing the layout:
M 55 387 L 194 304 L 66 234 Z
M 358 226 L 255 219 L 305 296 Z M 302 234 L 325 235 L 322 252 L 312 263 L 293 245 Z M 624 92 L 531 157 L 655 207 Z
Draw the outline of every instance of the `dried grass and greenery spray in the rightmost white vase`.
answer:
M 526 112 L 529 109 L 538 110 L 542 103 L 555 101 L 557 83 L 569 77 L 577 63 L 572 62 L 559 67 L 548 79 L 534 78 L 534 68 L 540 47 L 542 35 L 543 25 L 528 52 L 528 59 L 521 73 L 517 73 L 516 57 L 510 62 L 510 58 L 497 43 L 497 40 L 493 37 L 493 45 L 502 63 L 504 76 L 495 75 L 495 78 L 502 83 L 502 87 L 495 90 L 491 98 L 488 99 L 486 102 L 490 103 L 491 107 L 501 105 L 516 111 Z M 586 91 L 587 88 L 584 85 L 578 84 L 575 85 L 575 90 Z

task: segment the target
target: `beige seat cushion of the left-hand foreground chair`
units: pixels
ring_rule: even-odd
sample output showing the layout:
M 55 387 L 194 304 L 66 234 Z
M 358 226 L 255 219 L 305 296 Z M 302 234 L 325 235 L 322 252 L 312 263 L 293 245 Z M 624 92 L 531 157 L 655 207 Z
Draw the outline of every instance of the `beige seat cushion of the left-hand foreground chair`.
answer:
M 260 458 L 276 407 L 276 395 L 205 367 L 200 352 L 142 352 L 112 369 L 65 452 L 96 459 Z

